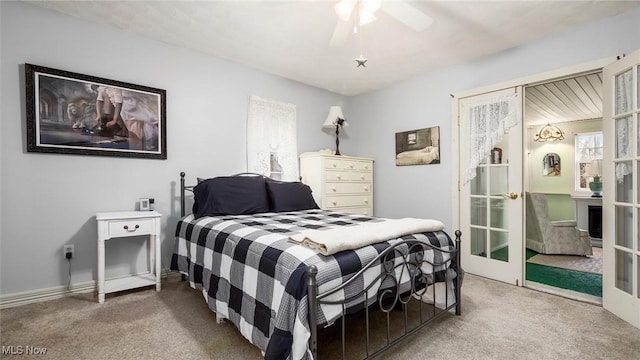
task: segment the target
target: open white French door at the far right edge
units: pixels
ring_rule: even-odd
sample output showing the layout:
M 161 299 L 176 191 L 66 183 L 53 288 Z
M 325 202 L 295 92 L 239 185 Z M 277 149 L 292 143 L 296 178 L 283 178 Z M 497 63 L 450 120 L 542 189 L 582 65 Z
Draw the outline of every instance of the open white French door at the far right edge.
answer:
M 604 67 L 602 304 L 640 328 L 640 50 Z

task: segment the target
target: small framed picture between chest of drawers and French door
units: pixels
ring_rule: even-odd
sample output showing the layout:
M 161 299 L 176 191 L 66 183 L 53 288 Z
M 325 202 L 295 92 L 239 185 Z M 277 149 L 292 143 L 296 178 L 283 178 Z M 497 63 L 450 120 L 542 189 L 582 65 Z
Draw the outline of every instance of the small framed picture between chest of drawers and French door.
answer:
M 396 166 L 440 164 L 440 127 L 396 133 Z

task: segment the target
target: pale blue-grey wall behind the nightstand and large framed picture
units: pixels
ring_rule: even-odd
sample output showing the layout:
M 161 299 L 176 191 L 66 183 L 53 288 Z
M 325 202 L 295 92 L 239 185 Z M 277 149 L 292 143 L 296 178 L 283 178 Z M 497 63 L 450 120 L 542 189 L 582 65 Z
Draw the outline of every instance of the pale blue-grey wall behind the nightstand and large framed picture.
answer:
M 133 210 L 141 197 L 155 198 L 163 214 L 168 268 L 178 174 L 195 181 L 246 170 L 250 95 L 297 105 L 299 152 L 334 144 L 321 126 L 329 106 L 342 105 L 339 95 L 24 2 L 2 1 L 0 10 L 0 294 L 66 285 L 66 243 L 75 244 L 72 283 L 97 278 L 95 213 Z M 168 159 L 27 153 L 24 63 L 167 90 Z M 348 141 L 341 145 L 354 153 Z M 127 273 L 131 263 L 137 269 L 140 245 L 110 241 L 107 275 Z

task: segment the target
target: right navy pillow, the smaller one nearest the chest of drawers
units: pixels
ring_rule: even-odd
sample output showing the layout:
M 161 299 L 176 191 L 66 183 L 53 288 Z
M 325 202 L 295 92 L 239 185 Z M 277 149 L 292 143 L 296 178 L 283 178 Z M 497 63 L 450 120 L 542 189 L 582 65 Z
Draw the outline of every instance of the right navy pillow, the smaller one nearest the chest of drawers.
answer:
M 318 209 L 311 188 L 301 182 L 267 180 L 267 193 L 273 212 Z

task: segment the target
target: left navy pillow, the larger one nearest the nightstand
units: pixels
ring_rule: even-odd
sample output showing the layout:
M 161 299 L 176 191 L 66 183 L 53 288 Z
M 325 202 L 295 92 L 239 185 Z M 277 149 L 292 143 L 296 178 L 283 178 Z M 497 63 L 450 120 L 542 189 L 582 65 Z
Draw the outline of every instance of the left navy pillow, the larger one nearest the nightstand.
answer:
M 193 187 L 193 215 L 249 215 L 269 212 L 265 180 L 260 176 L 206 179 Z

